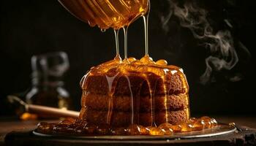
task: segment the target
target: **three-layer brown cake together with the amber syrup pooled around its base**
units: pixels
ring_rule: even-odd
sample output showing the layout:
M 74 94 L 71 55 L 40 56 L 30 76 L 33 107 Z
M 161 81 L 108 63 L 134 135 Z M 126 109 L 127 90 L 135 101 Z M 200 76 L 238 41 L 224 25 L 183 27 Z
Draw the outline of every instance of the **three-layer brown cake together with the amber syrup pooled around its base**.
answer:
M 217 126 L 214 118 L 189 117 L 189 87 L 183 70 L 148 56 L 115 58 L 93 67 L 80 82 L 78 118 L 39 123 L 57 135 L 171 135 Z

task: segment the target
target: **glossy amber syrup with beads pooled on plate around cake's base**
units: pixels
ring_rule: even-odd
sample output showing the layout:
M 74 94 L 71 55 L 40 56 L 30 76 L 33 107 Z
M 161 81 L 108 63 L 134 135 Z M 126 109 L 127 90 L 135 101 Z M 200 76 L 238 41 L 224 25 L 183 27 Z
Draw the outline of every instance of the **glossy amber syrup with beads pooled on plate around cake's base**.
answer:
M 207 124 L 206 124 L 207 123 Z M 159 126 L 140 126 L 131 124 L 128 127 L 111 128 L 108 125 L 96 126 L 87 123 L 85 120 L 67 118 L 60 123 L 41 122 L 37 125 L 37 131 L 42 134 L 75 134 L 75 135 L 152 135 L 163 136 L 172 135 L 180 132 L 201 131 L 206 128 L 217 126 L 214 118 L 190 118 L 186 123 L 172 125 L 162 123 Z

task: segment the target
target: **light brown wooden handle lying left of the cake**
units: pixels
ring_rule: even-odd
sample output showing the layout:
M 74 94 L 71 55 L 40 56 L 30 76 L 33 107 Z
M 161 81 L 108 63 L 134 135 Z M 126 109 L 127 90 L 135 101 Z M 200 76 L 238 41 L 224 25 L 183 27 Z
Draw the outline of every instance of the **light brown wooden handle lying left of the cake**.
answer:
M 37 115 L 44 115 L 47 117 L 55 118 L 78 118 L 79 112 L 72 110 L 61 110 L 54 107 L 45 107 L 34 104 L 27 104 L 27 112 L 31 112 Z

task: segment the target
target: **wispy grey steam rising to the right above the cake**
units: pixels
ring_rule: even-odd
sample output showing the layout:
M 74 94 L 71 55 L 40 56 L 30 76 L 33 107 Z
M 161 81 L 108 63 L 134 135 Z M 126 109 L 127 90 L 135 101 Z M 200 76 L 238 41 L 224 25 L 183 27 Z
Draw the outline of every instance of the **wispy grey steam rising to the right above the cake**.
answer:
M 208 12 L 206 9 L 197 7 L 192 1 L 187 1 L 183 7 L 179 7 L 178 3 L 168 0 L 170 4 L 170 12 L 167 16 L 162 16 L 162 28 L 168 31 L 168 25 L 172 15 L 175 15 L 184 28 L 189 28 L 196 39 L 200 39 L 203 45 L 211 52 L 206 58 L 206 71 L 200 77 L 200 82 L 206 84 L 211 79 L 213 71 L 221 71 L 222 69 L 230 70 L 238 64 L 238 54 L 234 47 L 233 37 L 229 30 L 220 30 L 214 32 L 211 24 L 207 20 Z M 226 19 L 224 22 L 230 28 L 231 23 Z M 249 51 L 243 45 L 244 50 Z M 239 80 L 239 77 L 233 80 Z

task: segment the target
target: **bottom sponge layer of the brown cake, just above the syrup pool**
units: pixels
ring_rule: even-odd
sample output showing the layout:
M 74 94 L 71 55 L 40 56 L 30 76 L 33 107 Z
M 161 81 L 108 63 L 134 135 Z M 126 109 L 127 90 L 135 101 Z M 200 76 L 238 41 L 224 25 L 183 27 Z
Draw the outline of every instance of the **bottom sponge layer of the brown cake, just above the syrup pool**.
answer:
M 80 118 L 88 121 L 88 123 L 93 123 L 95 125 L 105 125 L 108 120 L 108 111 L 97 111 L 97 110 L 87 110 L 80 115 Z M 156 123 L 157 126 L 161 123 L 178 124 L 184 123 L 189 118 L 187 110 L 171 111 L 169 115 L 165 116 L 166 112 L 155 112 L 152 116 L 151 113 L 138 113 L 133 115 L 133 123 L 151 126 L 152 123 Z M 121 127 L 129 126 L 132 124 L 132 113 L 131 112 L 112 112 L 110 118 L 110 126 Z

